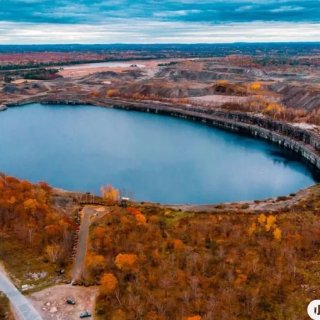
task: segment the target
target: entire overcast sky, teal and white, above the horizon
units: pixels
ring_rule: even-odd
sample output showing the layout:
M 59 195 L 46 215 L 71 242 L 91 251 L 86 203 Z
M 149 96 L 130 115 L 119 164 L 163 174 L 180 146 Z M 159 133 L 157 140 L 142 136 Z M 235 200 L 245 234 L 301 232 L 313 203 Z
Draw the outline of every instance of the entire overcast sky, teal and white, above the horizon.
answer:
M 0 44 L 320 41 L 320 0 L 0 0 Z

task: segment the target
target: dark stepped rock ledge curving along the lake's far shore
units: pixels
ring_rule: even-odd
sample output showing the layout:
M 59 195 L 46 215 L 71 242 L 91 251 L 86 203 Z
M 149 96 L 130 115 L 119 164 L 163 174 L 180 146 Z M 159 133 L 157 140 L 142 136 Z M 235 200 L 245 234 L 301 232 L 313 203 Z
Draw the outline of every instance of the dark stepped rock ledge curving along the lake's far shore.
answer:
M 88 99 L 75 97 L 42 96 L 12 103 L 11 106 L 40 102 L 43 104 L 91 104 L 102 107 L 151 112 L 202 122 L 242 134 L 262 138 L 292 150 L 320 170 L 320 136 L 308 129 L 243 112 L 221 109 L 196 108 L 190 105 L 173 105 L 154 101 L 125 99 Z M 10 105 L 8 105 L 10 106 Z

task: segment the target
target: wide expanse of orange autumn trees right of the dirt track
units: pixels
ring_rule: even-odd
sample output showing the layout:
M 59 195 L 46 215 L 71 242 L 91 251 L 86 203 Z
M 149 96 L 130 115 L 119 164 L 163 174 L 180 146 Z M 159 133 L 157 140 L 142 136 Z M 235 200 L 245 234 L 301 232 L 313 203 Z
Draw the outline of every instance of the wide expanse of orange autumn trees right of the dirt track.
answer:
M 92 225 L 89 243 L 91 254 L 105 257 L 103 272 L 118 281 L 107 296 L 100 288 L 101 318 L 112 319 L 119 308 L 127 319 L 145 320 L 303 318 L 299 301 L 308 292 L 301 281 L 314 285 L 308 262 L 320 257 L 320 188 L 312 193 L 292 209 L 276 204 L 272 214 L 241 206 L 232 214 L 111 208 Z M 148 221 L 143 227 L 135 219 L 140 213 Z

